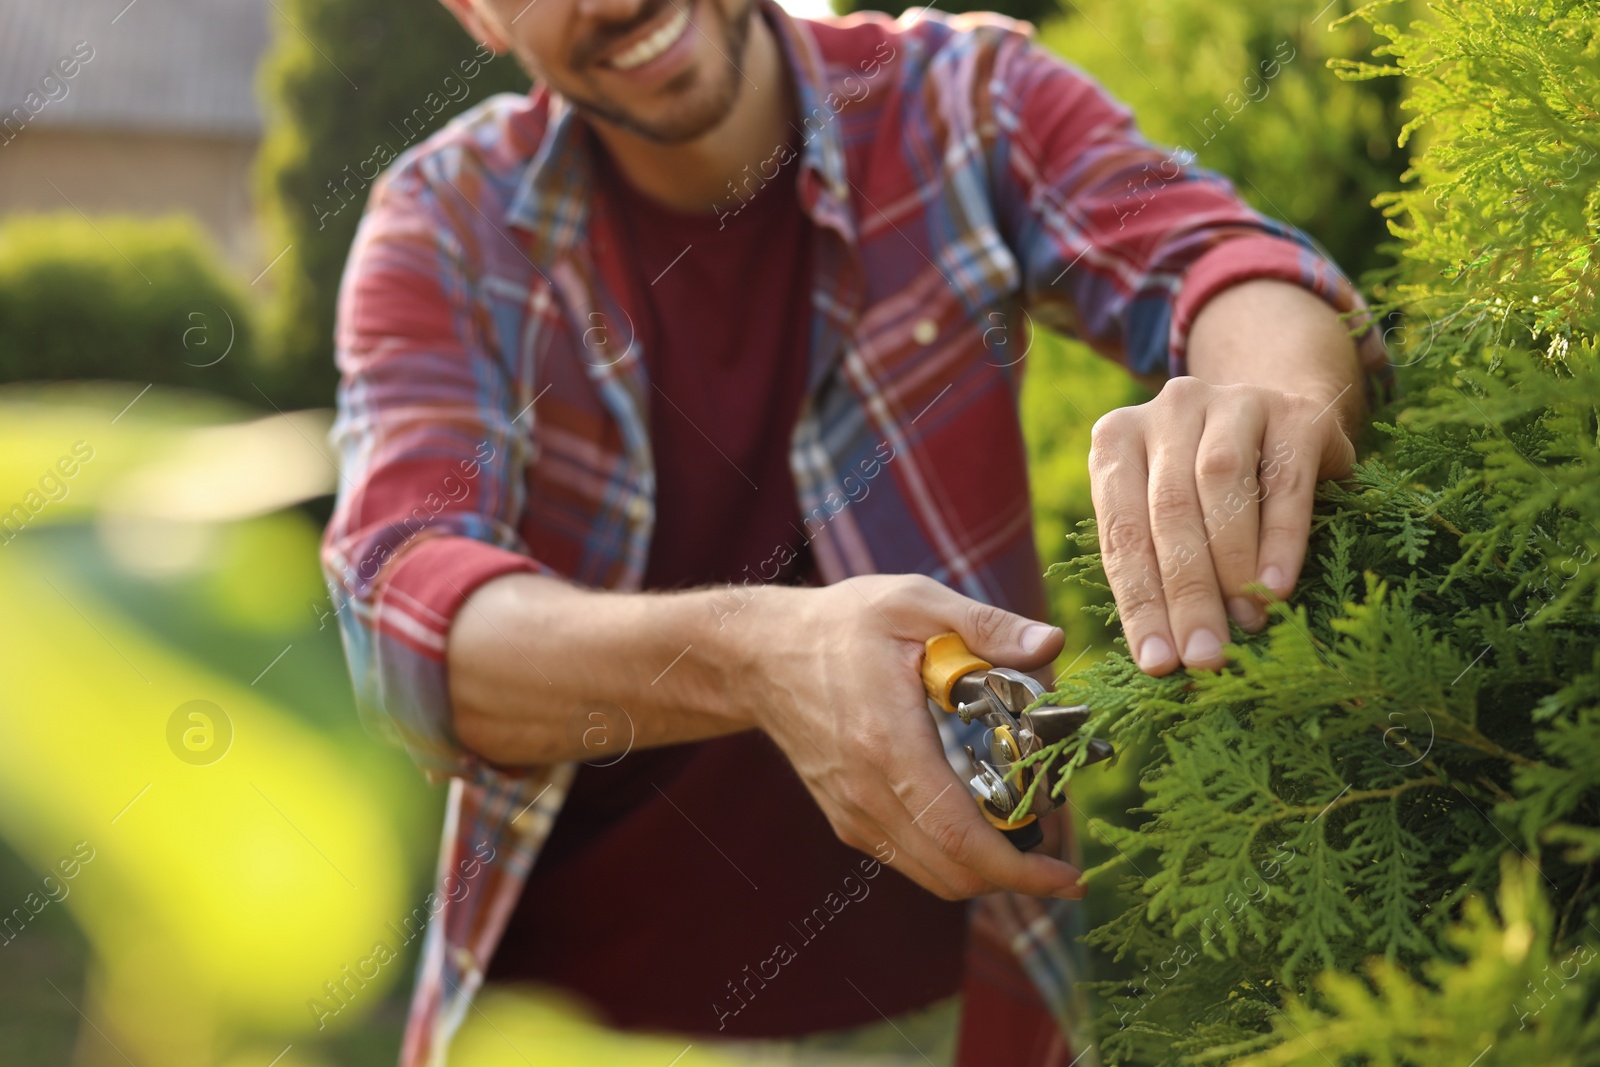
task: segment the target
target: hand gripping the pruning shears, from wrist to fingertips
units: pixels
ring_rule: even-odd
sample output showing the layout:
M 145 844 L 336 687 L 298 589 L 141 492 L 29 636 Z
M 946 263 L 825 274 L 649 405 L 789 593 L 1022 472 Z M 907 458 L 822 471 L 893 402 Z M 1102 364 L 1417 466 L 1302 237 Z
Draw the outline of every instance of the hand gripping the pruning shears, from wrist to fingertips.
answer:
M 923 641 L 955 630 L 978 656 L 1032 670 L 1061 630 L 918 574 L 755 590 L 723 637 L 741 712 L 794 765 L 838 838 L 944 899 L 997 889 L 1078 899 L 1078 872 L 1019 853 L 979 814 L 928 712 Z

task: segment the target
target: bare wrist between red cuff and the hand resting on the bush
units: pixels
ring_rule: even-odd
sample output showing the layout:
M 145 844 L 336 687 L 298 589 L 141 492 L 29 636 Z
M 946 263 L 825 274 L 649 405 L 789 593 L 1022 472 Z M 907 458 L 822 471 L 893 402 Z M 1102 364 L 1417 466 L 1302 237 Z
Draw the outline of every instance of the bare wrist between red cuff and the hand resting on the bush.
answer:
M 1331 402 L 1347 434 L 1365 406 L 1349 323 L 1286 282 L 1245 282 L 1206 301 L 1189 331 L 1189 373 Z

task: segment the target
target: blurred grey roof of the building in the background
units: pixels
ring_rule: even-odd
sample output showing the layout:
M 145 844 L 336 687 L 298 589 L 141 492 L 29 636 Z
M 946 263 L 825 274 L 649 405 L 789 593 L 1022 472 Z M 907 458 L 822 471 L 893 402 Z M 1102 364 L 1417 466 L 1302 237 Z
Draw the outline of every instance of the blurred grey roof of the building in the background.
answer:
M 59 99 L 29 122 L 254 136 L 256 64 L 269 43 L 270 0 L 3 0 L 0 117 L 29 93 Z M 93 58 L 77 77 L 56 62 L 80 42 Z M 86 50 L 83 50 L 86 53 Z M 61 96 L 61 85 L 66 96 Z

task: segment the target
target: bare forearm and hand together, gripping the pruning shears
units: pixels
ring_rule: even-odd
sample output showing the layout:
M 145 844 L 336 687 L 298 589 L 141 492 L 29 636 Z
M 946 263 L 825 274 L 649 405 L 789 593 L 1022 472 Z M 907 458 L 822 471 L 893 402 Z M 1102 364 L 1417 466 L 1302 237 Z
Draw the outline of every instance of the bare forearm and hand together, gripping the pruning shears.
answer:
M 822 587 L 670 593 L 584 589 L 547 574 L 485 582 L 450 632 L 456 737 L 501 765 L 590 760 L 584 709 L 627 713 L 632 747 L 765 729 L 842 841 L 931 893 L 1078 896 L 1078 872 L 1019 853 L 979 814 L 944 758 L 922 685 L 923 641 L 955 630 L 1021 670 L 1061 651 L 1061 630 L 917 574 Z M 1059 821 L 1059 813 L 1043 822 Z M 1045 825 L 1046 845 L 1054 825 Z M 882 854 L 880 854 L 882 856 Z

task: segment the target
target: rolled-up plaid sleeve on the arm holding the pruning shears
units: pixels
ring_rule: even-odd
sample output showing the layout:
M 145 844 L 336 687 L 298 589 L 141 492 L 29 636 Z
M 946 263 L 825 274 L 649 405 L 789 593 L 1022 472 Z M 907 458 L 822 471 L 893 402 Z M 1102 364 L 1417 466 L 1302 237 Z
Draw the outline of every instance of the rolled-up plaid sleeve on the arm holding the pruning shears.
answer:
M 341 480 L 322 563 L 362 720 L 435 779 L 482 768 L 451 728 L 456 613 L 493 577 L 554 573 L 518 533 L 526 434 L 485 317 L 427 182 L 386 176 L 339 291 Z

